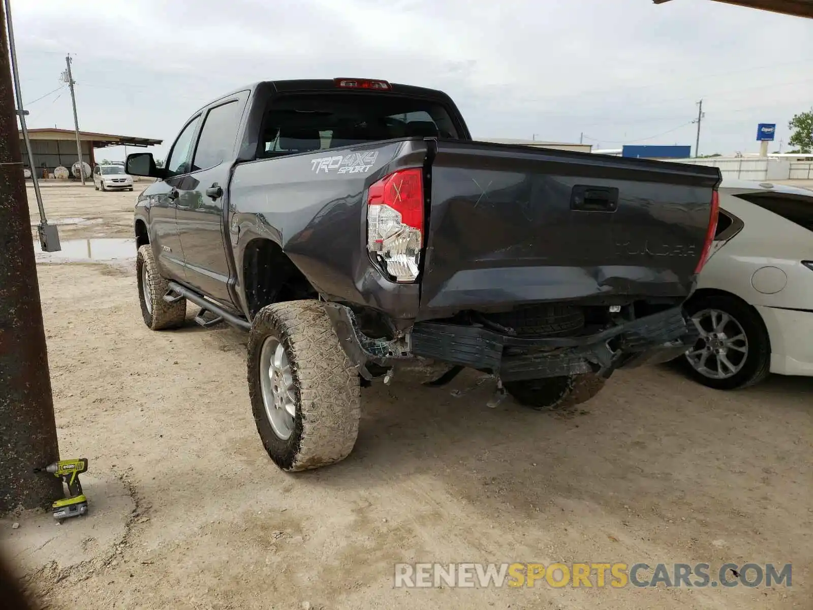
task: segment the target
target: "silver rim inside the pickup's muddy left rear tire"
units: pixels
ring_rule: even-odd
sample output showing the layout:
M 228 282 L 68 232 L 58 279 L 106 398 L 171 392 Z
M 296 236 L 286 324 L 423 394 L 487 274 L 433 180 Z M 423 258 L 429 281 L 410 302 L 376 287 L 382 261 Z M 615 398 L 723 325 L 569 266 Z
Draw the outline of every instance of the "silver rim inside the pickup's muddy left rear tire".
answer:
M 293 434 L 297 416 L 296 394 L 288 354 L 274 337 L 267 337 L 263 342 L 259 355 L 259 378 L 268 423 L 274 434 L 287 441 Z

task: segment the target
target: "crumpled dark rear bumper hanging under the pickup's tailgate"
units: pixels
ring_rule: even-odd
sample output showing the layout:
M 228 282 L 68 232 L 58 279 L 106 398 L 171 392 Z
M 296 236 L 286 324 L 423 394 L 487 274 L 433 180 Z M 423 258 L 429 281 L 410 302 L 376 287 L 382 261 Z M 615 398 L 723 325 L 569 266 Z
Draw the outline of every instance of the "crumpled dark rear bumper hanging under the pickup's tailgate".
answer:
M 682 307 L 576 337 L 518 338 L 481 326 L 419 322 L 392 341 L 359 332 L 353 312 L 324 303 L 350 361 L 369 379 L 366 365 L 392 366 L 415 356 L 476 368 L 502 381 L 595 373 L 656 364 L 676 358 L 697 341 L 698 331 Z

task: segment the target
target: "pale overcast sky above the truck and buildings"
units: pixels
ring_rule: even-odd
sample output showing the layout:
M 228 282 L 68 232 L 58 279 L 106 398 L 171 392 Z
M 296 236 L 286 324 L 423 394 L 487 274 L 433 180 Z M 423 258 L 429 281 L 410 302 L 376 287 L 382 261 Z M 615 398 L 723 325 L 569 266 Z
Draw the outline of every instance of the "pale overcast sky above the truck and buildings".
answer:
M 475 137 L 602 148 L 693 145 L 702 98 L 702 154 L 759 150 L 760 122 L 776 150 L 813 107 L 813 21 L 711 0 L 11 3 L 29 127 L 72 128 L 67 89 L 49 94 L 71 53 L 80 129 L 167 146 L 211 98 L 275 79 L 443 89 Z

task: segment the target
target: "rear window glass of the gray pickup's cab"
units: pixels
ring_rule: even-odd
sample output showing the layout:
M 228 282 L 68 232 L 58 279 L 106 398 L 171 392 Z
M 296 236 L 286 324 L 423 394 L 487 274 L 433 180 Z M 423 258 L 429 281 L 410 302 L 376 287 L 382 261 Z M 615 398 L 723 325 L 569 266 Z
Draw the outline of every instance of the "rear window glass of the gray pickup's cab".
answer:
M 259 138 L 260 157 L 293 155 L 398 137 L 457 139 L 439 102 L 393 94 L 291 94 L 272 100 Z

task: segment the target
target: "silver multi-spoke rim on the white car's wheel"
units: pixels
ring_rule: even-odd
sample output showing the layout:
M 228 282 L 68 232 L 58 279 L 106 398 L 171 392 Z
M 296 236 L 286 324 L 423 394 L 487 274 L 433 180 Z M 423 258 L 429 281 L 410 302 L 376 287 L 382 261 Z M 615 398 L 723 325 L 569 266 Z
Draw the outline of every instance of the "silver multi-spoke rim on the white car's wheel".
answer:
M 700 338 L 686 352 L 695 371 L 709 379 L 728 379 L 742 370 L 748 358 L 748 338 L 731 314 L 703 309 L 692 316 Z

